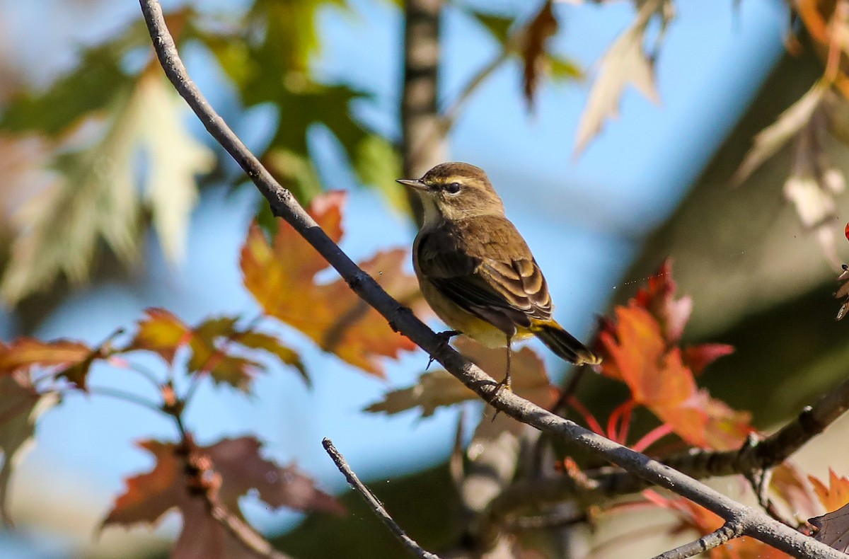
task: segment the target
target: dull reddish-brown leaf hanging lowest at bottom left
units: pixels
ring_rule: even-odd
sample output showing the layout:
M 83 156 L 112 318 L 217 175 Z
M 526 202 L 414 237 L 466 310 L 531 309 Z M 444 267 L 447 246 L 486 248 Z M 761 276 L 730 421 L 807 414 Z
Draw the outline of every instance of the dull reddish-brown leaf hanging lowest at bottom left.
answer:
M 115 500 L 102 525 L 153 523 L 177 507 L 183 515 L 183 531 L 171 551 L 172 557 L 224 559 L 244 555 L 241 544 L 211 517 L 205 499 L 189 493 L 180 445 L 145 441 L 138 446 L 154 455 L 154 469 L 127 479 L 126 492 Z M 192 451 L 196 456 L 207 457 L 211 470 L 221 476 L 219 499 L 233 514 L 241 517 L 239 497 L 254 488 L 259 498 L 274 508 L 344 512 L 338 501 L 315 488 L 312 480 L 295 466 L 281 467 L 264 460 L 259 449 L 255 438 L 243 437 L 223 439 Z

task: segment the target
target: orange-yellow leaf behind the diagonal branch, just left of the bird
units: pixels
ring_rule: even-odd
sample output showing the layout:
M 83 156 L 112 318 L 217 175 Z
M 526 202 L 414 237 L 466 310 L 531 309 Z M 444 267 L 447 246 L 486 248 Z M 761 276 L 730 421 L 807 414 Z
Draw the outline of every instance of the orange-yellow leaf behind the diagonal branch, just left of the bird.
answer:
M 344 193 L 316 196 L 310 214 L 331 239 L 342 236 Z M 406 305 L 421 301 L 418 282 L 403 271 L 407 251 L 377 253 L 361 263 L 391 296 Z M 265 312 L 301 330 L 346 362 L 373 375 L 383 375 L 380 357 L 396 358 L 415 348 L 408 338 L 393 334 L 386 320 L 363 302 L 343 280 L 318 284 L 315 275 L 328 264 L 286 223 L 269 245 L 261 229 L 251 225 L 242 247 L 245 287 Z

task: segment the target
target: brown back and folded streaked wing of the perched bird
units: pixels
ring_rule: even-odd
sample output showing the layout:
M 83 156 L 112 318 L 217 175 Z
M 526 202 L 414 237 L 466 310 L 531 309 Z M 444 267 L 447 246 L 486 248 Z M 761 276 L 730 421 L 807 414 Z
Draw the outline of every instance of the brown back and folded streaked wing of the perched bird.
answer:
M 513 224 L 475 217 L 424 234 L 419 271 L 460 308 L 512 335 L 551 318 L 543 273 Z

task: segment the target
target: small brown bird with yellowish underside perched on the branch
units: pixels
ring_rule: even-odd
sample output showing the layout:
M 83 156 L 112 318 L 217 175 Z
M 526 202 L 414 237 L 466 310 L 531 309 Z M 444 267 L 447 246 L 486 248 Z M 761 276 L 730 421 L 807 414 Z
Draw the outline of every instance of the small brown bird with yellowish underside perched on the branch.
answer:
M 537 336 L 574 364 L 599 364 L 551 317 L 554 309 L 543 272 L 486 172 L 468 163 L 441 163 L 424 177 L 398 179 L 416 192 L 424 221 L 413 242 L 413 268 L 424 299 L 450 328 L 486 347 L 507 347 Z

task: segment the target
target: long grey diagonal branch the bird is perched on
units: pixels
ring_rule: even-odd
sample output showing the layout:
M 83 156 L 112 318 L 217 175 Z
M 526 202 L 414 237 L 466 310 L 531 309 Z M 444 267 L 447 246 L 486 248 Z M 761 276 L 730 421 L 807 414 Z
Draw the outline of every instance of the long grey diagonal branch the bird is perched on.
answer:
M 194 110 L 206 129 L 256 184 L 257 189 L 268 200 L 274 215 L 283 217 L 287 223 L 290 223 L 335 268 L 351 289 L 381 313 L 395 330 L 402 332 L 404 336 L 408 336 L 419 347 L 430 353 L 465 386 L 476 392 L 494 408 L 516 420 L 586 449 L 616 466 L 633 471 L 646 481 L 670 489 L 715 512 L 725 520 L 739 519 L 743 526 L 743 534 L 751 535 L 794 556 L 825 559 L 846 557 L 828 545 L 797 533 L 768 517 L 762 511 L 741 505 L 703 483 L 685 476 L 680 471 L 673 470 L 657 460 L 652 460 L 572 421 L 554 415 L 516 396 L 513 392 L 499 390 L 497 382 L 492 377 L 444 343 L 440 336 L 417 319 L 408 308 L 389 296 L 371 276 L 358 268 L 357 264 L 340 250 L 339 246 L 318 226 L 318 223 L 315 223 L 295 201 L 291 193 L 273 179 L 256 157 L 245 148 L 245 144 L 242 144 L 230 130 L 221 116 L 211 109 L 209 102 L 188 77 L 183 62 L 177 54 L 173 38 L 167 31 L 159 2 L 139 0 L 139 4 L 166 76 Z

